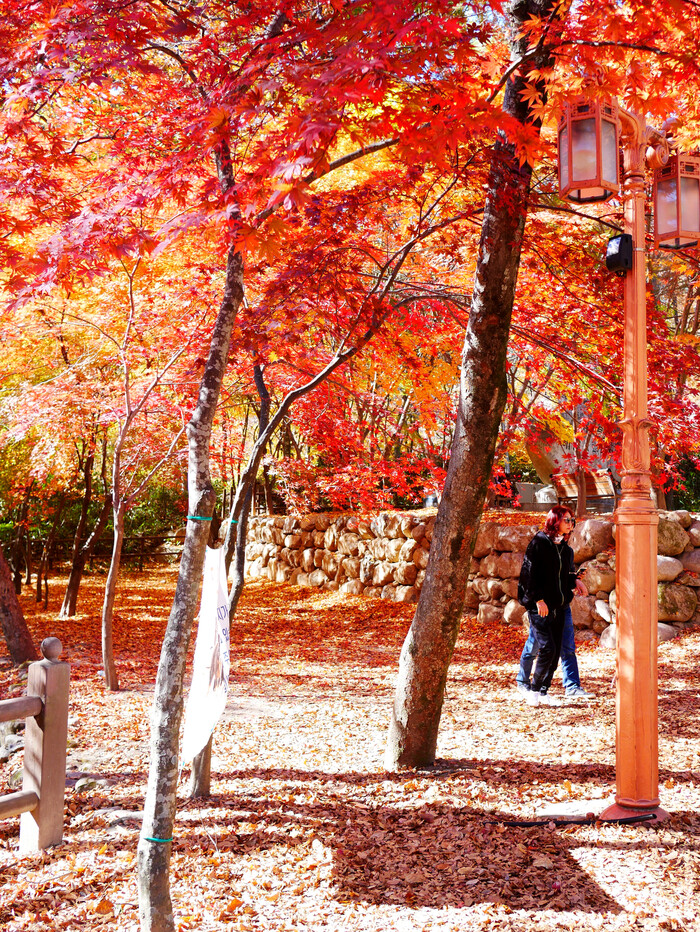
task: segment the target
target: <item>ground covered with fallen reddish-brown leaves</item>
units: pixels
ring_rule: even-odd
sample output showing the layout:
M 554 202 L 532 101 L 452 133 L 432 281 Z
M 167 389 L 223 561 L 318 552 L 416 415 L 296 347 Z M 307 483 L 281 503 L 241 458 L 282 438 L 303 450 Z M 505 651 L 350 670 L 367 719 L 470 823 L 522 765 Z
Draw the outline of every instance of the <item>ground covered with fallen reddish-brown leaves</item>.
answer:
M 48 612 L 28 591 L 22 604 L 36 637 L 58 635 L 71 663 L 65 841 L 19 859 L 19 820 L 0 823 L 0 928 L 135 932 L 148 710 L 175 571 L 123 579 L 117 694 L 100 676 L 103 577 L 85 580 L 70 621 L 57 618 L 63 582 L 51 581 Z M 390 774 L 383 744 L 411 612 L 247 587 L 215 738 L 215 795 L 189 801 L 186 773 L 181 784 L 172 860 L 179 928 L 700 929 L 700 634 L 660 647 L 670 818 L 528 828 L 502 820 L 567 803 L 585 810 L 587 800 L 599 811 L 614 790 L 613 654 L 579 655 L 598 701 L 531 709 L 513 689 L 521 632 L 466 622 L 437 765 Z M 23 689 L 21 671 L 0 654 L 0 694 Z M 15 788 L 20 765 L 21 752 L 4 765 L 0 792 Z

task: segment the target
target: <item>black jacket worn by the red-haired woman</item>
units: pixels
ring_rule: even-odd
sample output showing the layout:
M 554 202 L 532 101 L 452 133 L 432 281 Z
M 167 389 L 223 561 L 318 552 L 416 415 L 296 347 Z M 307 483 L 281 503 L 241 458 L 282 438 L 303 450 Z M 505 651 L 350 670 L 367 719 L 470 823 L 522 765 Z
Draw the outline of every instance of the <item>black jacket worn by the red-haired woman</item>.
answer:
M 567 543 L 555 544 L 544 531 L 538 531 L 527 545 L 518 580 L 518 602 L 536 612 L 540 599 L 554 611 L 574 597 L 576 569 L 574 551 Z

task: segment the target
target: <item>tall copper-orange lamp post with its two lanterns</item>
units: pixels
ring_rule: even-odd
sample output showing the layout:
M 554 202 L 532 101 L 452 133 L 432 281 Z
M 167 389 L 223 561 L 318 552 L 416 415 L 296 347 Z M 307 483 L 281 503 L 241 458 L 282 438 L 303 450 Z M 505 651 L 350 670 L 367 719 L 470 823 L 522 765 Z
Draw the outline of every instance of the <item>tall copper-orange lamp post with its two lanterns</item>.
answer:
M 607 200 L 618 190 L 623 153 L 624 232 L 632 237 L 625 276 L 622 490 L 615 512 L 617 587 L 617 702 L 615 803 L 602 813 L 616 819 L 659 808 L 657 698 L 657 528 L 651 498 L 647 407 L 644 179 L 656 184 L 656 238 L 672 248 L 700 239 L 700 160 L 681 175 L 668 168 L 666 134 L 614 101 L 581 99 L 559 124 L 559 190 L 577 203 Z M 677 158 L 674 156 L 674 158 Z M 688 159 L 683 162 L 688 169 Z M 659 205 L 662 204 L 660 209 Z M 661 223 L 659 220 L 661 219 Z

